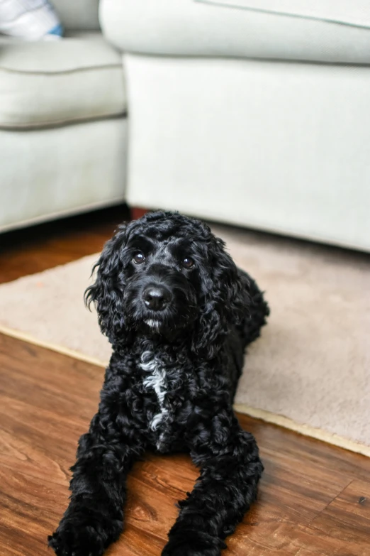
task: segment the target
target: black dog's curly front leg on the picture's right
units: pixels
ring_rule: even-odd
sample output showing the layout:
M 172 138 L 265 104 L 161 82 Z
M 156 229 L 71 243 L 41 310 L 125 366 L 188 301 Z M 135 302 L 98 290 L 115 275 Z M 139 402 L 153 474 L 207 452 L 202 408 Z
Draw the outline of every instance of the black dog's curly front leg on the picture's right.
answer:
M 218 556 L 254 501 L 263 471 L 257 443 L 241 429 L 232 408 L 195 415 L 188 443 L 201 476 L 179 503 L 162 556 Z

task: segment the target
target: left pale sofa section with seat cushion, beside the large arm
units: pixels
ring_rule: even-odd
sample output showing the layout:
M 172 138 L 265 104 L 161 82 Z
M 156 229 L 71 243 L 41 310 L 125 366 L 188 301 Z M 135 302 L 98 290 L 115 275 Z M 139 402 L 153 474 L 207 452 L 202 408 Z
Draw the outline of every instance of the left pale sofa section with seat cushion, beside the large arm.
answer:
M 55 42 L 0 39 L 0 231 L 125 200 L 123 67 L 98 0 L 54 0 Z

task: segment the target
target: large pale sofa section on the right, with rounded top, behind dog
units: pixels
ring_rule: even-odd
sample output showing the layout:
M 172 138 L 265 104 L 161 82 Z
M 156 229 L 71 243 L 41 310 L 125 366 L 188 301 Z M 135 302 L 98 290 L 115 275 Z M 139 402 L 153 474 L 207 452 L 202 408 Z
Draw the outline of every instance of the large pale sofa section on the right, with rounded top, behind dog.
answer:
M 100 20 L 130 205 L 370 250 L 367 0 L 101 0 Z

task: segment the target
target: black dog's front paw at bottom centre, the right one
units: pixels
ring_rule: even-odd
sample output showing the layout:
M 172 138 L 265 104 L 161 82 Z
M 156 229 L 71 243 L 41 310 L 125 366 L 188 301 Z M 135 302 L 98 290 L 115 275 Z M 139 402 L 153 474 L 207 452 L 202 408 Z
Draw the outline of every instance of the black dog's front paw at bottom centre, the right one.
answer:
M 222 540 L 195 530 L 169 535 L 162 556 L 220 556 L 226 545 Z

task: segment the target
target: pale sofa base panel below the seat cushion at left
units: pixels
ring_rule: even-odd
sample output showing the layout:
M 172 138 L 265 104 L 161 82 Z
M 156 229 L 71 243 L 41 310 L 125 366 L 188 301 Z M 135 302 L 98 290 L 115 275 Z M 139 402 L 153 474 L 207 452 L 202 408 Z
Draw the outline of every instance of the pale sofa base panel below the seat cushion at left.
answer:
M 0 129 L 0 232 L 123 202 L 126 153 L 123 117 Z

